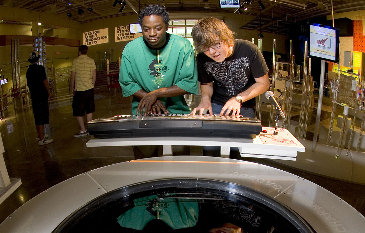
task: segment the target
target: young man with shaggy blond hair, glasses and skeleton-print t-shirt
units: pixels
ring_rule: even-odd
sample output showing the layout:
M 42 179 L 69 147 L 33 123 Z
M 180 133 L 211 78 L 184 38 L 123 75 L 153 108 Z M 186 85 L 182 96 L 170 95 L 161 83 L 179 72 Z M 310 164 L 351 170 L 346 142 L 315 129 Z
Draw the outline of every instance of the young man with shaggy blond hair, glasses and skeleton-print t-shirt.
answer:
M 255 97 L 269 89 L 269 69 L 258 47 L 234 34 L 217 18 L 193 27 L 201 102 L 190 115 L 208 109 L 211 115 L 255 117 Z

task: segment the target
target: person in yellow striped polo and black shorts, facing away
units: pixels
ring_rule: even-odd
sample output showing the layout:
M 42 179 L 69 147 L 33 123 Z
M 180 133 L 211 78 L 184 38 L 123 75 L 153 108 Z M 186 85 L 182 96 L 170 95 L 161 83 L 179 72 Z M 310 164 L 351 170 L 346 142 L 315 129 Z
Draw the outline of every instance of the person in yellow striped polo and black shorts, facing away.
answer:
M 92 120 L 92 113 L 95 111 L 94 85 L 96 80 L 95 61 L 89 58 L 86 53 L 88 46 L 78 47 L 78 58 L 73 60 L 71 67 L 71 90 L 73 93 L 72 112 L 80 125 L 80 132 L 74 137 L 88 135 L 84 125 L 84 115 L 87 121 Z

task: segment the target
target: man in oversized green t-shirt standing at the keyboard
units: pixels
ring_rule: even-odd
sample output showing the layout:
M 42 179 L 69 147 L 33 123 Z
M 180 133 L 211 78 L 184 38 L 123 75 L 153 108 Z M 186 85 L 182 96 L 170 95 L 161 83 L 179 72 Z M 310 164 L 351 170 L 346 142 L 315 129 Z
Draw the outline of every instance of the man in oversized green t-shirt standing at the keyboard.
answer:
M 198 93 L 191 43 L 166 33 L 169 13 L 164 6 L 143 8 L 138 23 L 143 36 L 124 47 L 119 73 L 123 96 L 133 96 L 132 114 L 188 114 L 184 95 Z M 155 157 L 158 146 L 133 146 L 133 152 L 135 159 Z

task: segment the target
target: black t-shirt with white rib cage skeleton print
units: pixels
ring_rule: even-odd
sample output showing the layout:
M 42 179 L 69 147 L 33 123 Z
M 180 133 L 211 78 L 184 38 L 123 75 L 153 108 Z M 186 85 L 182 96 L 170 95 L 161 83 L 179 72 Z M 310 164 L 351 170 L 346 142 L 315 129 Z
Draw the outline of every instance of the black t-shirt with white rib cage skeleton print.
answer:
M 201 83 L 214 81 L 212 103 L 224 105 L 255 83 L 269 69 L 258 47 L 246 40 L 235 40 L 231 56 L 215 62 L 204 53 L 196 57 L 198 78 Z M 243 107 L 255 107 L 255 98 L 242 103 Z

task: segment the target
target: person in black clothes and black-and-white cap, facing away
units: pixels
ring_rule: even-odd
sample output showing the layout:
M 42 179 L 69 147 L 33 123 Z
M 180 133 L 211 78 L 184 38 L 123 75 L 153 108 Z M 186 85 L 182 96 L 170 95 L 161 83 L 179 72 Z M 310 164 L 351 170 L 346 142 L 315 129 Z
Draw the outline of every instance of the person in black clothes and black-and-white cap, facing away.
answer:
M 42 146 L 53 142 L 53 139 L 43 133 L 44 125 L 49 124 L 48 99 L 52 98 L 53 94 L 49 91 L 44 66 L 37 64 L 40 57 L 38 51 L 32 51 L 29 54 L 30 65 L 26 76 L 32 100 L 35 128 L 38 134 L 38 145 Z

